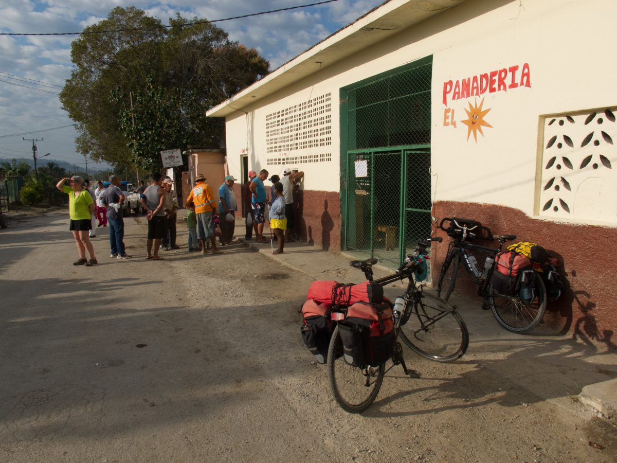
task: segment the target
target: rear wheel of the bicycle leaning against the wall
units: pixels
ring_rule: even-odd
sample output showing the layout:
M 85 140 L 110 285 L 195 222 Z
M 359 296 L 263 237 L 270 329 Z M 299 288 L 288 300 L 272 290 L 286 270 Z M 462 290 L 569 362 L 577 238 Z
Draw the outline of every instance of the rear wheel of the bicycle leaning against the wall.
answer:
M 493 290 L 489 286 L 489 304 L 495 319 L 508 331 L 513 333 L 527 333 L 537 327 L 544 317 L 546 310 L 546 288 L 542 278 L 534 278 L 535 297 L 531 302 L 521 301 L 516 296 L 506 296 Z

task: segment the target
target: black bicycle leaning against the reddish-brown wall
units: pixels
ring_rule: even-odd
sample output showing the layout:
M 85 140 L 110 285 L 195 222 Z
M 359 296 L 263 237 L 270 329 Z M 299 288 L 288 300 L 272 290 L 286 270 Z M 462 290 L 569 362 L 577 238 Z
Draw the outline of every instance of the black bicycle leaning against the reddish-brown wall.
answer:
M 444 223 L 448 226 L 444 227 Z M 535 328 L 544 316 L 546 310 L 547 293 L 542 278 L 536 272 L 531 272 L 530 282 L 526 284 L 526 294 L 514 291 L 513 294 L 499 293 L 491 283 L 495 268 L 495 256 L 502 250 L 506 241 L 516 240 L 516 235 L 492 235 L 489 228 L 471 219 L 446 217 L 439 223 L 439 228 L 453 238 L 448 246 L 444 265 L 441 267 L 437 295 L 445 301 L 456 285 L 458 269 L 461 263 L 466 272 L 478 288 L 478 295 L 482 296 L 483 309 L 491 309 L 497 322 L 513 333 L 527 333 Z M 499 248 L 488 248 L 471 243 L 474 239 L 498 241 Z M 484 266 L 479 267 L 474 252 L 487 254 Z M 531 296 L 529 296 L 531 294 Z

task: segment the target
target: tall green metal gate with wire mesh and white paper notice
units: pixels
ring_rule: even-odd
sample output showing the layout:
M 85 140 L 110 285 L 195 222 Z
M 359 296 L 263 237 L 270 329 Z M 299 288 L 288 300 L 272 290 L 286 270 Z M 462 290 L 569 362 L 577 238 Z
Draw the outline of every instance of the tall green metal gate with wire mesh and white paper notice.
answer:
M 421 60 L 344 89 L 344 245 L 399 265 L 431 233 L 431 72 Z

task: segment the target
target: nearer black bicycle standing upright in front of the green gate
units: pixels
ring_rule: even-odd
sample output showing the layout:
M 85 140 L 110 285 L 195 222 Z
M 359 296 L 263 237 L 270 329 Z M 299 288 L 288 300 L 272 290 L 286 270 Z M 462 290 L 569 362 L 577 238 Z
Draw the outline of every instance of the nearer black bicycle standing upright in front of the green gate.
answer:
M 431 238 L 440 241 L 441 238 Z M 343 344 L 339 327 L 334 328 L 328 349 L 328 380 L 334 398 L 342 409 L 347 412 L 359 413 L 370 406 L 381 388 L 384 375 L 394 365 L 401 364 L 405 374 L 410 377 L 420 377 L 416 370 L 408 370 L 403 359 L 403 349 L 398 338 L 404 341 L 410 349 L 427 359 L 437 362 L 452 362 L 460 358 L 469 346 L 469 332 L 462 317 L 441 299 L 423 292 L 422 286 L 416 285 L 416 278 L 425 277 L 426 264 L 424 260 L 428 240 L 418 242 L 413 254 L 409 254 L 403 265 L 387 277 L 373 280 L 373 265 L 375 258 L 366 261 L 352 261 L 352 267 L 364 272 L 366 279 L 381 286 L 407 278 L 405 293 L 394 301 L 393 319 L 397 336 L 392 366 L 386 370 L 385 362 L 381 365 L 360 365 L 354 367 L 347 363 L 343 356 Z M 420 278 L 418 278 L 420 279 Z M 333 320 L 342 320 L 347 307 L 336 307 L 332 313 Z

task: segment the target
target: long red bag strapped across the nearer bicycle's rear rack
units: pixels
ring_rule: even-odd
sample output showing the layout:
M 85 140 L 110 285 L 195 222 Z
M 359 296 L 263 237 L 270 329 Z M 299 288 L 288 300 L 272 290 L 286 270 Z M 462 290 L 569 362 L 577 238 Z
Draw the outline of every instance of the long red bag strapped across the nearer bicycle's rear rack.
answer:
M 380 304 L 383 298 L 383 287 L 369 282 L 360 283 L 360 285 L 346 285 L 334 281 L 313 282 L 307 294 L 307 299 L 344 305 L 361 301 Z

